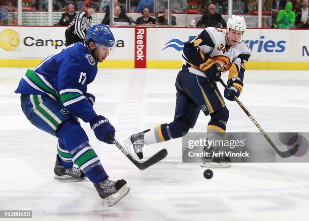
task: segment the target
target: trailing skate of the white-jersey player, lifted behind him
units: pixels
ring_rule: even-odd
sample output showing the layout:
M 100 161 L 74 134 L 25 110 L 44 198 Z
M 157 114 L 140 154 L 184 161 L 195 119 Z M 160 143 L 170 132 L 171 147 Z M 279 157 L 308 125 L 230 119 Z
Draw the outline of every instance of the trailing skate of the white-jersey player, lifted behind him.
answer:
M 137 161 L 143 159 L 144 132 L 133 134 L 129 138 L 124 139 L 123 142 L 132 157 Z

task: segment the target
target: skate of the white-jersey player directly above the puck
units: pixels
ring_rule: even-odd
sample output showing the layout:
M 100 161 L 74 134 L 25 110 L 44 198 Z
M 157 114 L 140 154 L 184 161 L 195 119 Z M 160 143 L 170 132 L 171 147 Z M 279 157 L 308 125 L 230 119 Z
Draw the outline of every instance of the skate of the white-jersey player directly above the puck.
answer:
M 209 157 L 202 157 L 202 164 L 200 167 L 202 168 L 229 168 L 231 167 L 231 159 L 229 157 L 213 157 L 213 152 L 216 151 L 216 148 L 207 148 L 204 146 L 203 152 L 210 153 Z

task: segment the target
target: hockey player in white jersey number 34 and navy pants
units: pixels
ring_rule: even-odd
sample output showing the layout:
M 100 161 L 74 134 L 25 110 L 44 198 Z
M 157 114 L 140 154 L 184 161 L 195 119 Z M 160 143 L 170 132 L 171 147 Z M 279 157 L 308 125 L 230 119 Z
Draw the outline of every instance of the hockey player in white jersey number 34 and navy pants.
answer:
M 227 30 L 205 28 L 193 40 L 184 45 L 182 69 L 176 79 L 176 112 L 174 121 L 160 124 L 149 132 L 141 132 L 125 139 L 127 149 L 142 159 L 144 144 L 152 144 L 178 138 L 194 127 L 200 110 L 210 115 L 208 138 L 225 132 L 229 111 L 220 94 L 216 81 L 221 71 L 229 71 L 228 89 L 224 97 L 234 101 L 242 91 L 245 63 L 250 49 L 240 41 L 246 24 L 243 17 L 232 16 Z

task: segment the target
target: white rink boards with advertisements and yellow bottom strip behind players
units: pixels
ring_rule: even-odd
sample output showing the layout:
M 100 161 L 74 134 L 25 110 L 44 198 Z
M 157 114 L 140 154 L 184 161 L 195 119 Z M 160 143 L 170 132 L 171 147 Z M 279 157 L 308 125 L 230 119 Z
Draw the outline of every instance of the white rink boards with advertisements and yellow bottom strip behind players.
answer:
M 179 68 L 183 45 L 199 28 L 112 27 L 115 52 L 98 67 Z M 142 35 L 138 30 L 142 30 Z M 309 30 L 248 29 L 247 69 L 309 69 Z M 63 49 L 65 27 L 0 27 L 0 66 L 33 67 Z M 138 58 L 138 56 L 140 56 Z

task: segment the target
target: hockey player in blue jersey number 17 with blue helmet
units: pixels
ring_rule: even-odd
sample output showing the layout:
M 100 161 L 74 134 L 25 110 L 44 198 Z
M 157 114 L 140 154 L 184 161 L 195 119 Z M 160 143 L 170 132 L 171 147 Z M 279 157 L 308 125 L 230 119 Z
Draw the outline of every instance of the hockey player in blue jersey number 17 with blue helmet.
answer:
M 89 122 L 97 139 L 112 143 L 108 136 L 115 136 L 115 128 L 93 110 L 95 97 L 87 92 L 87 85 L 95 79 L 97 63 L 114 48 L 109 27 L 93 25 L 85 43 L 71 44 L 33 70 L 28 69 L 15 91 L 21 94 L 21 107 L 28 120 L 58 137 L 55 178 L 88 177 L 109 206 L 121 200 L 129 187 L 125 180 L 109 179 L 77 118 Z

